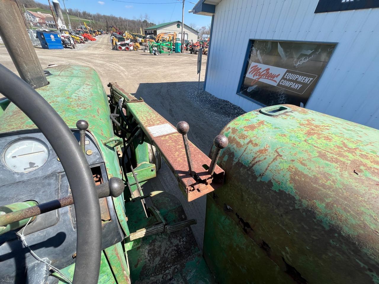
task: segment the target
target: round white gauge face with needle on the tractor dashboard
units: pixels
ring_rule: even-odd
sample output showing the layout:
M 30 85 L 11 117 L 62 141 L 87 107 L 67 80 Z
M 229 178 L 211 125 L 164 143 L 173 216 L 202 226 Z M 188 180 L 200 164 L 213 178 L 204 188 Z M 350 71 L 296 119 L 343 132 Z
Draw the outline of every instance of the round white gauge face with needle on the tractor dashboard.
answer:
M 42 167 L 49 158 L 44 142 L 23 138 L 12 142 L 4 152 L 5 165 L 17 173 L 27 173 Z

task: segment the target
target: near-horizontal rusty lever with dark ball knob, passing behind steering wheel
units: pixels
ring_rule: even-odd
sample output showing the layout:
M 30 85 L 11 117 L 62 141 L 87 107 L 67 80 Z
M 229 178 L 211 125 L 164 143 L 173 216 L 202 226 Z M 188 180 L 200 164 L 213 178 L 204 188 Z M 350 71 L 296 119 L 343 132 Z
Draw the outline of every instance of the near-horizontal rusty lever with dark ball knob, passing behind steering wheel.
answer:
M 124 192 L 125 184 L 121 178 L 112 177 L 108 183 L 103 183 L 95 187 L 99 198 L 103 197 L 118 197 Z M 4 215 L 0 215 L 0 226 L 6 226 L 8 224 L 19 222 L 21 220 L 34 217 L 49 211 L 53 211 L 62 207 L 66 207 L 74 204 L 72 195 L 55 199 L 46 203 L 41 203 L 36 206 L 28 207 L 18 211 L 10 212 Z

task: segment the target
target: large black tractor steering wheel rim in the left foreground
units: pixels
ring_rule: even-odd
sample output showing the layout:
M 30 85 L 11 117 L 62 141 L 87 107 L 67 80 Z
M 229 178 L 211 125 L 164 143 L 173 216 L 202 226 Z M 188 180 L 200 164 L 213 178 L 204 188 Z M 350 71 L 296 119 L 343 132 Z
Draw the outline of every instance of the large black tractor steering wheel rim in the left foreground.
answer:
M 61 161 L 77 218 L 73 283 L 95 284 L 99 279 L 102 228 L 99 198 L 85 155 L 69 127 L 38 92 L 2 64 L 0 78 L 0 93 L 34 122 Z

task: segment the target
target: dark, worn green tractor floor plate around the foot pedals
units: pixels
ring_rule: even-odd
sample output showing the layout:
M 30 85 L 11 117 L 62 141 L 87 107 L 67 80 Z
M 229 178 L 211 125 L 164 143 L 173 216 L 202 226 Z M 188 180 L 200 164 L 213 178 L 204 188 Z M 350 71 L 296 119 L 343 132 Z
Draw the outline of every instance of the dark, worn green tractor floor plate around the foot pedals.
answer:
M 160 216 L 144 217 L 139 200 L 126 203 L 130 212 L 130 231 L 146 228 L 164 220 L 172 224 L 186 220 L 180 201 L 168 192 L 155 192 L 150 197 Z M 191 230 L 156 233 L 141 239 L 125 239 L 132 283 L 216 283 L 210 273 Z

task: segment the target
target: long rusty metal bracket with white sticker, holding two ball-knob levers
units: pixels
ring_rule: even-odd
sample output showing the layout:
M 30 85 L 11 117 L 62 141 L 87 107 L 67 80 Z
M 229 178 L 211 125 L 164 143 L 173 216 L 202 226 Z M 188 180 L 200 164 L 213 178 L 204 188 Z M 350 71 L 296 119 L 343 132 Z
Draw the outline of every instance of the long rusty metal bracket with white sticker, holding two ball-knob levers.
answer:
M 110 83 L 110 87 L 117 89 L 118 94 L 123 91 L 115 83 Z M 210 193 L 224 183 L 224 170 L 216 165 L 214 174 L 210 175 L 208 168 L 211 159 L 191 142 L 189 149 L 196 174 L 190 175 L 182 134 L 143 100 L 137 100 L 130 94 L 120 95 L 127 103 L 125 115 L 133 115 L 146 136 L 160 151 L 180 186 L 185 189 L 188 201 Z

